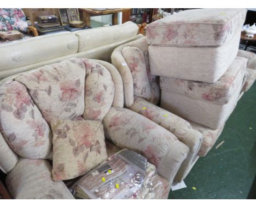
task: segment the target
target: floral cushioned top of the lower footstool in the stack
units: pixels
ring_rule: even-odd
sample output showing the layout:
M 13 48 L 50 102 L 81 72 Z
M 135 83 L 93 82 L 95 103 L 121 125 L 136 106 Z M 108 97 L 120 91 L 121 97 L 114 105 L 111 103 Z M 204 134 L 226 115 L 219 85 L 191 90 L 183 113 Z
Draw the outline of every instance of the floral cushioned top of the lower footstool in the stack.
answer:
M 246 59 L 236 57 L 225 74 L 215 83 L 188 81 L 185 79 L 160 77 L 160 88 L 184 94 L 195 99 L 214 103 L 228 103 L 241 82 L 246 70 Z

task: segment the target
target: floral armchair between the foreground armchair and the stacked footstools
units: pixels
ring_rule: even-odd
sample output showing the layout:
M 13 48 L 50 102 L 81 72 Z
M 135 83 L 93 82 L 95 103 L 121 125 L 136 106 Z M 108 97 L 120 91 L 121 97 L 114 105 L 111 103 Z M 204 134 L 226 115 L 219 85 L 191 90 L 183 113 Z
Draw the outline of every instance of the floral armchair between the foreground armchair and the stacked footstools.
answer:
M 196 161 L 202 134 L 188 121 L 157 106 L 159 77 L 150 74 L 146 37 L 115 48 L 111 58 L 123 78 L 125 107 L 164 127 L 189 147 L 188 157 L 175 176 L 176 181 L 183 180 Z

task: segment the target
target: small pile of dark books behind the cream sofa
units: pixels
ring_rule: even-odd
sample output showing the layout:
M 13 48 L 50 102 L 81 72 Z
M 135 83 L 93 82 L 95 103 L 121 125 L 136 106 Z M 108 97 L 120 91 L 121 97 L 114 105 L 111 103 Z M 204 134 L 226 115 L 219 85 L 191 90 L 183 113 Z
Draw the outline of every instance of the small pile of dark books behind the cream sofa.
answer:
M 55 15 L 38 16 L 36 28 L 40 33 L 64 29 L 64 27 L 60 25 L 58 17 Z

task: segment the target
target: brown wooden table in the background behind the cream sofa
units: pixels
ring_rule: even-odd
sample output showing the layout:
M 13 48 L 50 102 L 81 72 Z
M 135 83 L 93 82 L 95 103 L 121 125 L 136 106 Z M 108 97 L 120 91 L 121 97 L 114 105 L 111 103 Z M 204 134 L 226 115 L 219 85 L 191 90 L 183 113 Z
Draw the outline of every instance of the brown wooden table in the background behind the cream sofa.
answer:
M 86 26 L 91 26 L 91 16 L 109 15 L 112 14 L 112 25 L 118 25 L 118 13 L 123 11 L 129 11 L 129 9 L 106 9 L 104 11 L 98 11 L 93 9 L 81 9 L 79 8 L 79 14 L 81 19 L 86 23 Z

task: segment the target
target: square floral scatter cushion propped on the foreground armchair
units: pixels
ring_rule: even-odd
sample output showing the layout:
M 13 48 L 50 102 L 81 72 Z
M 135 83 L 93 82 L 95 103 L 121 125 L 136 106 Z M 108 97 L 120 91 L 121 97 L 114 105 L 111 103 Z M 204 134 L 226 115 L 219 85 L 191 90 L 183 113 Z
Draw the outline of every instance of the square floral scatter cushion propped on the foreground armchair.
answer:
M 53 180 L 77 178 L 107 159 L 100 121 L 52 119 Z

